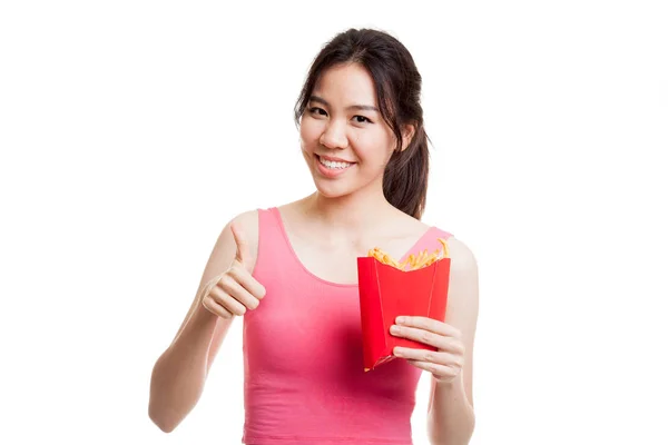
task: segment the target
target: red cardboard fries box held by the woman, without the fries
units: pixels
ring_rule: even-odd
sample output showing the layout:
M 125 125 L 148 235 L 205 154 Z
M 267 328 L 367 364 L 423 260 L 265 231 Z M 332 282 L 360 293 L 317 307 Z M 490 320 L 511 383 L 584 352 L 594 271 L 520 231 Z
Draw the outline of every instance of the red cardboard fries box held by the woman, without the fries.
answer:
M 400 315 L 445 319 L 450 258 L 441 258 L 428 267 L 400 270 L 374 257 L 357 258 L 360 312 L 364 370 L 392 360 L 395 346 L 435 350 L 422 343 L 390 334 Z

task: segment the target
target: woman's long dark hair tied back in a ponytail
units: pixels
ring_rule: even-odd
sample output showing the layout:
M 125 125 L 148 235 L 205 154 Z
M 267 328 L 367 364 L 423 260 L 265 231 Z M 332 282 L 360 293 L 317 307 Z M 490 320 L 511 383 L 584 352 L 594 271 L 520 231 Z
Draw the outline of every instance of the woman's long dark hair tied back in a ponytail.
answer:
M 373 78 L 381 115 L 396 137 L 396 149 L 383 175 L 383 194 L 394 207 L 420 219 L 429 177 L 429 138 L 420 103 L 422 77 L 413 57 L 396 38 L 380 30 L 352 28 L 330 40 L 308 70 L 295 105 L 295 122 L 299 125 L 322 72 L 347 62 L 362 65 Z M 413 125 L 415 132 L 402 151 L 404 125 Z

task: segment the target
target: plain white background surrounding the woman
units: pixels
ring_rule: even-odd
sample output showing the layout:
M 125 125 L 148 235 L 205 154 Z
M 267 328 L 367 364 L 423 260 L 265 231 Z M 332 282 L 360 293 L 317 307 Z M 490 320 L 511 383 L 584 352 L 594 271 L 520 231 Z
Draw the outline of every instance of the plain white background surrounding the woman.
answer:
M 365 26 L 423 76 L 424 220 L 478 257 L 471 443 L 668 443 L 661 2 L 222 3 L 2 2 L 1 443 L 239 443 L 240 320 L 168 435 L 150 370 L 223 226 L 313 191 L 294 101 Z

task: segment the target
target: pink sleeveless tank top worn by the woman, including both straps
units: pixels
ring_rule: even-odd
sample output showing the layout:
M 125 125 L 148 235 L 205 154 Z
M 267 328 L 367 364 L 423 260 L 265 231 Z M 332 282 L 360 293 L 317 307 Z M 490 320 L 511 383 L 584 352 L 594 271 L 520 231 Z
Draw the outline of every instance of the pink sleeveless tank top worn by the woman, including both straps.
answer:
M 278 209 L 258 212 L 253 276 L 267 293 L 244 316 L 243 443 L 412 444 L 421 370 L 394 359 L 365 373 L 357 285 L 311 274 L 295 255 Z M 435 250 L 436 238 L 450 236 L 431 227 L 404 258 Z

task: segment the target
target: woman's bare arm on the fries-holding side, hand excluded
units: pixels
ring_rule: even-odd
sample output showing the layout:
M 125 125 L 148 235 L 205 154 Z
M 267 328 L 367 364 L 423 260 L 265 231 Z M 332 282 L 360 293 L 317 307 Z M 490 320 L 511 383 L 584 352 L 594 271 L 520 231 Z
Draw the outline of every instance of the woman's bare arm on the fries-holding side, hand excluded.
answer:
M 461 241 L 448 241 L 451 251 L 451 280 L 445 323 L 462 333 L 465 346 L 462 372 L 452 383 L 432 378 L 429 406 L 429 435 L 433 445 L 465 445 L 473 435 L 473 340 L 478 322 L 478 265 Z

